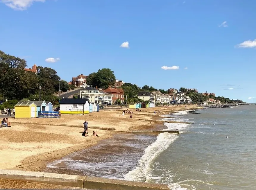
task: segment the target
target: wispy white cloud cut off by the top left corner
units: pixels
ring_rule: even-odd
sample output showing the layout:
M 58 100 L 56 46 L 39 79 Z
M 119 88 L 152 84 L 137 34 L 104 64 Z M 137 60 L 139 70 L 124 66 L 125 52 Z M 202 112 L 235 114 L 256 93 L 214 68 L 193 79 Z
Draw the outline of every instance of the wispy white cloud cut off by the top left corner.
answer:
M 34 2 L 45 2 L 46 0 L 0 0 L 6 6 L 15 10 L 26 10 Z

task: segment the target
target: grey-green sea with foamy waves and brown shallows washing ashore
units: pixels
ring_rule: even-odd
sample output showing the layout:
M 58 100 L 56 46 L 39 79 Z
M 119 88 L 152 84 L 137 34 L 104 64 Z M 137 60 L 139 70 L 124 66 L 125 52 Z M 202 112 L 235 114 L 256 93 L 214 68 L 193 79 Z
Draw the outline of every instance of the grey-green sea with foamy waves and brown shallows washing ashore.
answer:
M 171 190 L 256 189 L 255 105 L 165 115 L 158 136 L 117 134 L 47 165 L 47 172 L 167 184 Z

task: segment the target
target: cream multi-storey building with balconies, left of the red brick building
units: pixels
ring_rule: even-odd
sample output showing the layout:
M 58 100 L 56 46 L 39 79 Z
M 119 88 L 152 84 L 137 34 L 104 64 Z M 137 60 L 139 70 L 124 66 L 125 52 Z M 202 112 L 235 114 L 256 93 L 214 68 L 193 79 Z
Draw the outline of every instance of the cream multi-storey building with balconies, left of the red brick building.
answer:
M 80 97 L 88 99 L 89 102 L 102 104 L 104 99 L 104 92 L 99 91 L 99 89 L 93 87 L 86 87 L 80 90 Z

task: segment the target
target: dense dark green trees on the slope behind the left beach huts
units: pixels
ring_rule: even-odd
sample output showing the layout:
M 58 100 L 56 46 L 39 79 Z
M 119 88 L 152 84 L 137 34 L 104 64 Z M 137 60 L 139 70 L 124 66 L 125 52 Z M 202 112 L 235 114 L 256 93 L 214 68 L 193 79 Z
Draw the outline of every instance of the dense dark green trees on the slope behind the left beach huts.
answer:
M 68 90 L 68 83 L 60 80 L 54 69 L 38 66 L 35 74 L 24 71 L 26 66 L 26 60 L 0 51 L 0 89 L 4 90 L 1 99 L 38 100 L 41 93 L 41 99 L 53 101 L 57 97 L 52 94 L 59 92 L 59 87 L 63 92 Z

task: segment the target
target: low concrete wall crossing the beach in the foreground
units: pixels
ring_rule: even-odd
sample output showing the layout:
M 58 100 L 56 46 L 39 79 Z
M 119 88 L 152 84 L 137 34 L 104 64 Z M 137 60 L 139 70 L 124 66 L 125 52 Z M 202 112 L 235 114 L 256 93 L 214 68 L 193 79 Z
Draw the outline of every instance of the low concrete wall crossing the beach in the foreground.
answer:
M 97 190 L 169 190 L 167 185 L 156 183 L 21 170 L 0 170 L 0 178 Z

